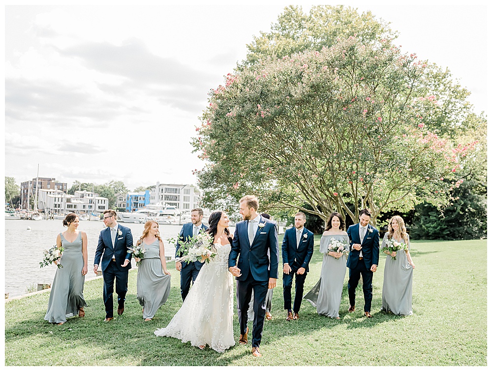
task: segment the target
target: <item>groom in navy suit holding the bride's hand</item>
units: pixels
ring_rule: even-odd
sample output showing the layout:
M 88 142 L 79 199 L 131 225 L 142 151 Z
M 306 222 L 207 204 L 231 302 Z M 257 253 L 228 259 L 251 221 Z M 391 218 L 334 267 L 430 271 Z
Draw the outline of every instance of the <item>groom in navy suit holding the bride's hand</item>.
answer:
M 229 271 L 237 280 L 236 296 L 241 330 L 239 343 L 247 344 L 247 311 L 252 291 L 254 320 L 251 351 L 253 356 L 261 357 L 259 346 L 265 320 L 266 295 L 269 288 L 277 285 L 278 277 L 277 228 L 270 220 L 258 214 L 258 199 L 255 196 L 245 196 L 239 202 L 239 213 L 243 216 L 243 221 L 236 225 L 229 254 Z

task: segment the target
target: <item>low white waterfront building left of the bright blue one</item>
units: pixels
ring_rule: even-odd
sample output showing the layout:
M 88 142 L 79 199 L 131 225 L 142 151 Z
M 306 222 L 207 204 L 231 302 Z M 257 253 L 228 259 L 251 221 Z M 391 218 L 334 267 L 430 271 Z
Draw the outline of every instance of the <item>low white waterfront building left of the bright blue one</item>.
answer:
M 109 205 L 107 198 L 89 191 L 75 191 L 73 195 L 68 195 L 61 190 L 40 189 L 38 196 L 38 208 L 53 214 L 100 214 Z

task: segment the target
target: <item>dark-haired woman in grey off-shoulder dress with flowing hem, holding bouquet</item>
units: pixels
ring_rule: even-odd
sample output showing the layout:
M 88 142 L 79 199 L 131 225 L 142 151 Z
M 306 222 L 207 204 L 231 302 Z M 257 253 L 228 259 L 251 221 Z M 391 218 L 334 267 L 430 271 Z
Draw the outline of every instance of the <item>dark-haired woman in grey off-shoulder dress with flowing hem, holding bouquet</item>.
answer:
M 337 242 L 341 242 L 343 246 L 339 248 L 340 251 L 332 251 L 335 249 L 332 245 Z M 340 214 L 334 212 L 330 215 L 319 241 L 319 251 L 324 253 L 321 277 L 318 283 L 304 295 L 304 299 L 316 307 L 318 314 L 340 319 L 338 311 L 347 270 L 348 249 L 349 239 L 345 232 L 345 222 Z

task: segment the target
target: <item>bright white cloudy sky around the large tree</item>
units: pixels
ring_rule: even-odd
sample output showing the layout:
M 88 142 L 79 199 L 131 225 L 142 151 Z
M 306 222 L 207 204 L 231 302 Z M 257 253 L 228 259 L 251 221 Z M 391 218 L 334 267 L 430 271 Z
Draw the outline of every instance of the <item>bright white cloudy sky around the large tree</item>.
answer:
M 345 4 L 391 22 L 403 51 L 448 67 L 487 114 L 485 5 Z M 5 175 L 196 184 L 208 92 L 285 5 L 7 5 Z

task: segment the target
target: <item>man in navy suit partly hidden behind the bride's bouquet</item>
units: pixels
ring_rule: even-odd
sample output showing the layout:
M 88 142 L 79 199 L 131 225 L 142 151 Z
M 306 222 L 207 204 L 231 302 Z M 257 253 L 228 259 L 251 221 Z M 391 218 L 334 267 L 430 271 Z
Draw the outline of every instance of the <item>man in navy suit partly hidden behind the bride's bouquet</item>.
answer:
M 192 236 L 196 236 L 200 230 L 207 230 L 208 227 L 202 224 L 203 219 L 203 210 L 200 207 L 191 210 L 191 223 L 186 223 L 181 228 L 179 240 L 187 241 Z M 179 242 L 176 243 L 176 258 L 180 258 L 183 256 L 183 253 L 180 253 L 178 249 L 180 248 Z M 191 287 L 191 281 L 195 283 L 196 277 L 198 276 L 198 272 L 202 267 L 203 263 L 200 263 L 198 260 L 194 262 L 187 263 L 185 261 L 181 262 L 176 260 L 176 270 L 180 271 L 181 274 L 181 298 L 186 298 L 188 295 L 189 288 Z

